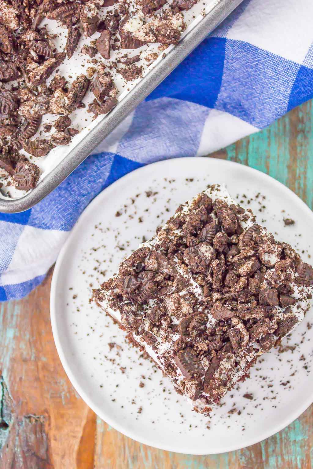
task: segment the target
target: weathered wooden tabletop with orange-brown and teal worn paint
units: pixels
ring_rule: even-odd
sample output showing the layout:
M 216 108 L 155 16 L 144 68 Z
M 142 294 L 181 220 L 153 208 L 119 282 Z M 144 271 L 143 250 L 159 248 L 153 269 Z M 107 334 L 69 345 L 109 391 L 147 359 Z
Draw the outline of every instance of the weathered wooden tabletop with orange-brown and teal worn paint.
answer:
M 270 174 L 312 208 L 312 154 L 311 101 L 270 128 L 211 156 Z M 80 399 L 62 369 L 50 325 L 50 281 L 51 272 L 24 300 L 1 304 L 1 469 L 312 467 L 313 406 L 273 437 L 214 456 L 160 451 L 102 422 Z

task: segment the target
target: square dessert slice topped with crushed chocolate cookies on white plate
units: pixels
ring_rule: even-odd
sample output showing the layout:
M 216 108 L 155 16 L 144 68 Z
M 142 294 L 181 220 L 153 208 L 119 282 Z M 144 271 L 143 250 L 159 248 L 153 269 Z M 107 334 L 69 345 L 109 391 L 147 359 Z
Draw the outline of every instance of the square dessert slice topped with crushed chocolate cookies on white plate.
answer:
M 125 259 L 95 301 L 208 415 L 304 317 L 313 269 L 208 187 Z

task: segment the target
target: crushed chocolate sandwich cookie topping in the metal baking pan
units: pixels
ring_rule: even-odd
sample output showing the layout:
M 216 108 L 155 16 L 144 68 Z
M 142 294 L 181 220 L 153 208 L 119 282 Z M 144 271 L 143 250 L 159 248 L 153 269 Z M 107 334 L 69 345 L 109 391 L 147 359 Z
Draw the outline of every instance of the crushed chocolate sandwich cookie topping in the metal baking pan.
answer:
M 84 100 L 90 79 L 96 101 L 90 102 L 89 93 L 87 112 L 95 117 L 110 112 L 117 104 L 118 93 L 125 87 L 118 77 L 120 89 L 116 88 L 116 74 L 126 82 L 134 81 L 163 50 L 178 43 L 186 28 L 182 12 L 196 1 L 190 1 L 189 6 L 178 3 L 169 0 L 29 0 L 26 3 L 1 0 L 0 138 L 7 139 L 12 155 L 23 151 L 23 158 L 27 158 L 27 153 L 30 159 L 31 156 L 43 157 L 49 148 L 68 144 L 69 137 L 76 135 L 78 129 L 66 130 L 69 126 L 61 125 L 50 135 L 55 119 L 48 121 L 46 116 L 67 118 L 77 109 L 86 107 Z M 45 19 L 50 22 L 44 23 Z M 55 34 L 53 22 L 64 30 L 64 50 L 60 50 L 55 41 L 59 33 Z M 91 40 L 86 41 L 86 38 Z M 148 48 L 155 43 L 161 43 L 158 52 Z M 147 47 L 137 55 L 128 52 L 143 45 Z M 77 54 L 86 54 L 92 60 L 83 58 L 87 63 L 80 67 L 78 76 L 67 74 L 66 79 L 59 75 L 61 65 L 69 64 L 71 68 L 73 64 L 76 68 Z M 92 67 L 87 67 L 88 62 Z M 111 80 L 104 83 L 109 74 Z M 79 131 L 86 125 L 84 121 L 89 121 L 86 117 L 80 120 Z M 76 115 L 70 118 L 73 120 Z M 49 134 L 46 135 L 49 143 L 40 140 L 43 132 Z M 9 176 L 2 177 L 10 180 L 11 173 L 12 170 L 3 169 L 3 174 Z

